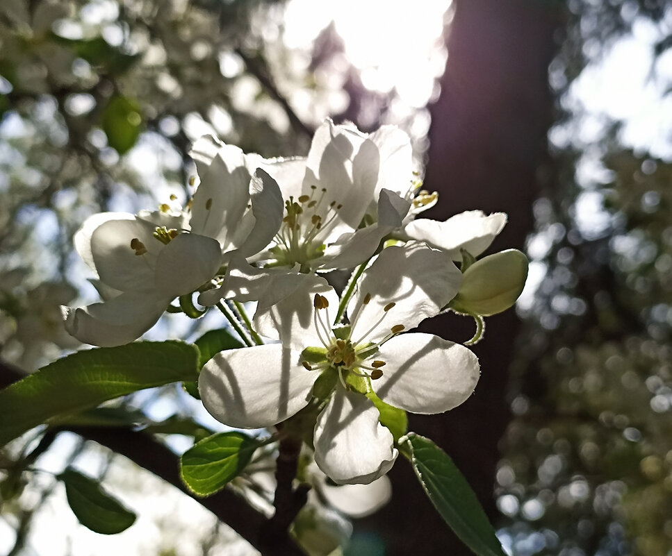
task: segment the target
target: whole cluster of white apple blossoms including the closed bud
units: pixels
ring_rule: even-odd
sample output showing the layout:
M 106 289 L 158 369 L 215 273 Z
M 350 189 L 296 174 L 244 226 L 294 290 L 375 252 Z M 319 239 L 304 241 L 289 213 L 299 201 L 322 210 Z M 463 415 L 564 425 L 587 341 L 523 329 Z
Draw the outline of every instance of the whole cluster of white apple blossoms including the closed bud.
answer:
M 202 137 L 186 208 L 171 199 L 155 212 L 85 221 L 75 244 L 103 301 L 65 308 L 67 330 L 116 346 L 176 310 L 175 298 L 194 316 L 194 294 L 229 317 L 227 301 L 254 301 L 237 328 L 248 346 L 218 353 L 200 373 L 208 412 L 235 428 L 309 414 L 307 441 L 331 480 L 376 480 L 398 455 L 386 408 L 445 412 L 479 378 L 469 348 L 409 330 L 451 309 L 480 325 L 514 303 L 527 275 L 518 251 L 476 260 L 505 214 L 418 218 L 437 194 L 421 189 L 411 154 L 393 126 L 367 135 L 325 121 L 306 158 L 273 160 Z M 336 269 L 352 269 L 343 292 L 329 284 Z

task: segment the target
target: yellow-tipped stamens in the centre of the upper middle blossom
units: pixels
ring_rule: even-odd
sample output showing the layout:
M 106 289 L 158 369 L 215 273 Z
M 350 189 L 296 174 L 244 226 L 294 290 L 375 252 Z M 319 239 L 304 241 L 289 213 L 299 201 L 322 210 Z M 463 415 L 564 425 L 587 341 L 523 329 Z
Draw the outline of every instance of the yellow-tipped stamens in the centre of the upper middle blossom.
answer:
M 322 256 L 325 244 L 320 231 L 336 218 L 336 213 L 343 206 L 336 204 L 336 201 L 326 205 L 326 194 L 326 187 L 318 192 L 318 188 L 311 185 L 310 195 L 302 195 L 296 200 L 291 196 L 285 201 L 287 215 L 275 235 L 276 246 L 271 249 L 277 260 L 275 264 L 300 264 L 301 271 L 307 272 L 307 263 Z

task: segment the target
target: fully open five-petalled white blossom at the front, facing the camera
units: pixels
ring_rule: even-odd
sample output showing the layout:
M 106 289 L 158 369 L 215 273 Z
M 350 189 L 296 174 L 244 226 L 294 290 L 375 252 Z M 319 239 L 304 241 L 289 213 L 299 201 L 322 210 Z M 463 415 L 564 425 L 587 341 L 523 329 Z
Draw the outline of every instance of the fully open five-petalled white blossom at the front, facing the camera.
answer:
M 229 426 L 268 427 L 306 407 L 315 381 L 331 375 L 336 387 L 315 423 L 315 462 L 338 484 L 372 482 L 398 452 L 363 390 L 403 410 L 440 413 L 476 385 L 478 362 L 468 348 L 420 332 L 400 335 L 440 312 L 461 273 L 445 253 L 419 242 L 385 248 L 361 276 L 345 328 L 332 325 L 338 296 L 326 280 L 302 274 L 294 283 L 254 317 L 262 335 L 281 343 L 215 355 L 199 377 L 202 401 Z

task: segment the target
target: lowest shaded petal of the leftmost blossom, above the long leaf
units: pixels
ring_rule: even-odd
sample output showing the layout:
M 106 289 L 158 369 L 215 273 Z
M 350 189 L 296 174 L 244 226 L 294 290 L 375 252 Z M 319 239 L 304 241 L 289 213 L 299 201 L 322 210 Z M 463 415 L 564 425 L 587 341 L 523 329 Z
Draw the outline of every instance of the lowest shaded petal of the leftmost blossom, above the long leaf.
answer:
M 154 326 L 167 303 L 152 294 L 126 292 L 86 308 L 63 307 L 65 330 L 85 344 L 122 346 Z

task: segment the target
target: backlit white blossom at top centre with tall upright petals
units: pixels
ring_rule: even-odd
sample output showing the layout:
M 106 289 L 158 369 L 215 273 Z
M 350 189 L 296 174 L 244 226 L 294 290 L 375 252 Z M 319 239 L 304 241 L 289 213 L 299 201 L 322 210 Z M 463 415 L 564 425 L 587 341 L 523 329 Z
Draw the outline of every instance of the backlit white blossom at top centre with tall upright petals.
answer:
M 315 132 L 307 158 L 256 158 L 255 163 L 277 182 L 284 217 L 264 251 L 252 257 L 242 253 L 229 265 L 224 283 L 199 297 L 204 305 L 222 297 L 261 298 L 263 292 L 254 284 L 238 287 L 251 275 L 265 278 L 259 284 L 270 294 L 277 287 L 268 283 L 284 273 L 354 267 L 402 226 L 411 207 L 401 195 L 411 189 L 411 144 L 393 126 L 366 135 L 352 125 L 336 126 L 327 120 Z M 375 217 L 369 217 L 371 212 Z M 260 273 L 245 259 L 263 264 L 264 271 Z M 274 267 L 284 270 L 269 270 Z M 273 294 L 266 301 L 278 299 Z

